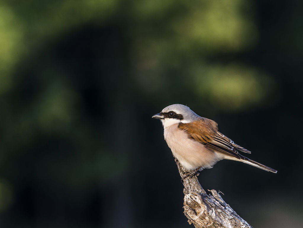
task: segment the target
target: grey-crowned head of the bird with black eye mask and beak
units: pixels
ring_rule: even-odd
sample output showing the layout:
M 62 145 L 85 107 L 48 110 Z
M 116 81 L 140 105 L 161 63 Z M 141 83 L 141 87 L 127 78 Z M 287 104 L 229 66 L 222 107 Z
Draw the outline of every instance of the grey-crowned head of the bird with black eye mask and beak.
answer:
M 166 128 L 173 124 L 190 123 L 201 117 L 183 104 L 172 104 L 165 107 L 160 113 L 153 115 L 152 118 L 161 120 L 163 127 Z

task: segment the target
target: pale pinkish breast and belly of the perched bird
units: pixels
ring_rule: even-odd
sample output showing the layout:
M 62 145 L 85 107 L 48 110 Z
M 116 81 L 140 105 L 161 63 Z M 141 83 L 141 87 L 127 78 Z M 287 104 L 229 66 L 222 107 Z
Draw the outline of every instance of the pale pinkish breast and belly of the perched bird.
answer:
M 187 170 L 194 170 L 198 167 L 211 168 L 216 162 L 223 159 L 218 153 L 188 138 L 186 132 L 178 128 L 178 124 L 164 128 L 164 138 L 174 157 Z

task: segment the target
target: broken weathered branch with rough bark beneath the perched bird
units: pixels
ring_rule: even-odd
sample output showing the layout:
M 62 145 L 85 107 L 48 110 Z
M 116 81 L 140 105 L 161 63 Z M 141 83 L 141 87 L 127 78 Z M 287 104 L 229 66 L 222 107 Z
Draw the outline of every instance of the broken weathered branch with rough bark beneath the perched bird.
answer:
M 208 190 L 208 195 L 198 182 L 197 175 L 188 175 L 178 160 L 175 161 L 183 178 L 183 208 L 189 224 L 194 224 L 196 228 L 252 228 L 224 202 L 218 192 Z

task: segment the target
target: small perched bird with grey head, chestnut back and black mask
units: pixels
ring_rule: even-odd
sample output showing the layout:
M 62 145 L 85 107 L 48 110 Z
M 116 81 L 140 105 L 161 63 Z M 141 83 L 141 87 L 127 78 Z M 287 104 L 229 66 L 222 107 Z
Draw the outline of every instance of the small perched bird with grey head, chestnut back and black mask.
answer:
M 235 144 L 218 131 L 215 121 L 197 115 L 188 106 L 172 104 L 152 118 L 161 120 L 168 147 L 188 172 L 212 168 L 218 161 L 228 159 L 277 173 L 277 170 L 241 155 L 239 152 L 250 154 L 251 151 Z

